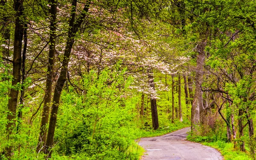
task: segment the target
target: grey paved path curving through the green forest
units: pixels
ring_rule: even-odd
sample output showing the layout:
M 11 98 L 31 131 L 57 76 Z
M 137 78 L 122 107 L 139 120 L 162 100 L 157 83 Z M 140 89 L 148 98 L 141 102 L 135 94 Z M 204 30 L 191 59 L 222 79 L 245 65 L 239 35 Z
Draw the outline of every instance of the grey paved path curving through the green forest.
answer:
M 141 160 L 223 160 L 216 149 L 186 141 L 189 130 L 190 127 L 163 136 L 141 138 L 139 145 L 146 150 Z

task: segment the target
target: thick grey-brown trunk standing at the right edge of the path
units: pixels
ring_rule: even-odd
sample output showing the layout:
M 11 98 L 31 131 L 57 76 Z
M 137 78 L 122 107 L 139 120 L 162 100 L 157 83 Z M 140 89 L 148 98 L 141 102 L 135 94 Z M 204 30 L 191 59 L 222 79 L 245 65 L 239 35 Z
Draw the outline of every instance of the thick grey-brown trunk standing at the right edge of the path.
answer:
M 196 49 L 198 51 L 197 56 L 197 67 L 196 67 L 196 74 L 195 74 L 195 95 L 194 100 L 191 108 L 191 130 L 192 132 L 195 131 L 197 126 L 200 126 L 200 115 L 201 112 L 204 110 L 203 104 L 203 92 L 201 90 L 201 84 L 203 82 L 203 67 L 204 67 L 204 48 L 206 43 L 201 42 L 197 45 Z

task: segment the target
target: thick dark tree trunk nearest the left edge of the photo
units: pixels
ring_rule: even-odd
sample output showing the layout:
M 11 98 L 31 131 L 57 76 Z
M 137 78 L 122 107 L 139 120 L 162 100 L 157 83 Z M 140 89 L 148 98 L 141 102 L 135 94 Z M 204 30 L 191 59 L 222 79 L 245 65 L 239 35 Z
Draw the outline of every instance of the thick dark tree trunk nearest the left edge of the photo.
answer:
M 9 94 L 8 101 L 8 111 L 7 115 L 8 124 L 6 126 L 6 131 L 8 134 L 8 139 L 10 135 L 15 129 L 15 118 L 16 118 L 16 110 L 17 110 L 17 100 L 19 95 L 19 89 L 17 88 L 17 84 L 20 83 L 20 71 L 21 71 L 21 50 L 22 50 L 22 39 L 23 39 L 23 1 L 15 0 L 14 9 L 16 11 L 16 19 L 15 19 L 15 31 L 14 31 L 14 50 L 13 50 L 13 60 L 12 60 L 12 89 Z M 8 158 L 12 156 L 12 146 L 6 148 L 6 155 Z

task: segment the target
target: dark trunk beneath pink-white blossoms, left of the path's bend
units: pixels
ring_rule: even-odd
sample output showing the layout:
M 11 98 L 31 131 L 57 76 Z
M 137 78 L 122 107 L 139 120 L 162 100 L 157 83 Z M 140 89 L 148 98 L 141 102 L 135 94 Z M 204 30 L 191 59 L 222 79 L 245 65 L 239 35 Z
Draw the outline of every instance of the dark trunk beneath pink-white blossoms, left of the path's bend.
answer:
M 148 83 L 151 87 L 151 90 L 155 92 L 154 86 L 154 76 L 152 70 L 148 70 Z M 159 127 L 158 115 L 157 115 L 157 99 L 154 93 L 150 94 L 150 105 L 151 105 L 151 115 L 152 115 L 152 126 L 156 130 Z

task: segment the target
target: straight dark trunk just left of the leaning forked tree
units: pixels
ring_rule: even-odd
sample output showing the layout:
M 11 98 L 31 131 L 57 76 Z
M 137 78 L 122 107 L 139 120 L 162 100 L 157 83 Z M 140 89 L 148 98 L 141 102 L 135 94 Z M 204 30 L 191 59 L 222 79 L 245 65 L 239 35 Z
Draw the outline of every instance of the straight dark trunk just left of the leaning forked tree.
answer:
M 54 79 L 54 62 L 55 62 L 55 46 L 56 46 L 56 15 L 57 15 L 57 0 L 51 0 L 51 8 L 49 9 L 50 14 L 50 36 L 49 36 L 49 58 L 47 67 L 47 79 L 46 79 L 46 89 L 44 98 L 44 107 L 41 118 L 40 133 L 38 138 L 38 146 L 36 148 L 37 152 L 44 150 L 44 145 L 47 137 L 47 124 L 49 120 L 49 110 L 52 98 L 52 82 Z

